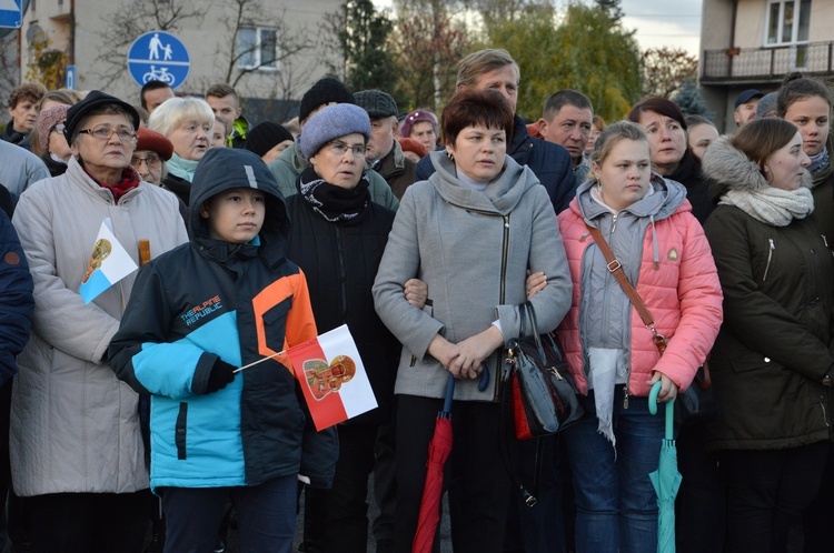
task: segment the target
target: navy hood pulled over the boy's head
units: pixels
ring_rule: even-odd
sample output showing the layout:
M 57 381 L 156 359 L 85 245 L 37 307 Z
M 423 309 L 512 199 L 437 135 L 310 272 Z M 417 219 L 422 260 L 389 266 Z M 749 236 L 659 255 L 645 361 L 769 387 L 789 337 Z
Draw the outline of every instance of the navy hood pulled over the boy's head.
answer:
M 275 175 L 258 155 L 248 150 L 234 148 L 212 148 L 197 165 L 188 202 L 190 235 L 208 239 L 208 225 L 200 217 L 200 205 L 234 188 L 254 188 L 266 194 L 264 227 L 258 235 L 261 243 L 265 240 L 279 239 L 282 244 L 289 234 L 289 217 Z

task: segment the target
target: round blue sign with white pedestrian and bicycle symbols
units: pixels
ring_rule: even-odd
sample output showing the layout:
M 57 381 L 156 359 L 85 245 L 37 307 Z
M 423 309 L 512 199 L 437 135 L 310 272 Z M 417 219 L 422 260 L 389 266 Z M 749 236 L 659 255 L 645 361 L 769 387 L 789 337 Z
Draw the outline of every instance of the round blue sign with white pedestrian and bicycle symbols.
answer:
M 130 77 L 140 87 L 148 81 L 162 81 L 176 89 L 185 82 L 190 67 L 185 44 L 163 31 L 146 32 L 133 41 L 128 52 Z

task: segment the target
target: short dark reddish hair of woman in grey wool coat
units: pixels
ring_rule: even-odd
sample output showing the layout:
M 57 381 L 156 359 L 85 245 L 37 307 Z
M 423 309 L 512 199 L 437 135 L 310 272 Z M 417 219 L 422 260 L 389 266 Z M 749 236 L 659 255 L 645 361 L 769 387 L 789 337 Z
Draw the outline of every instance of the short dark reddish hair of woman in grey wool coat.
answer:
M 509 143 L 513 137 L 513 109 L 500 92 L 465 89 L 451 97 L 443 110 L 444 142 L 454 145 L 461 130 L 476 124 L 504 130 Z

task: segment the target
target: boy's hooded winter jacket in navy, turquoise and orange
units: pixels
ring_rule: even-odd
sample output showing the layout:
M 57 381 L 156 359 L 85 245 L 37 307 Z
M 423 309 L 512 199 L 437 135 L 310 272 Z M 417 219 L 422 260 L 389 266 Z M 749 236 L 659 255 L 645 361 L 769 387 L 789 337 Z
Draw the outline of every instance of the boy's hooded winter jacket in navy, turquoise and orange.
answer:
M 232 188 L 266 193 L 258 237 L 208 235 L 200 207 Z M 246 150 L 210 150 L 195 173 L 191 242 L 137 278 L 110 365 L 151 395 L 151 487 L 257 485 L 294 474 L 329 486 L 335 430 L 315 432 L 292 372 L 278 356 L 206 394 L 218 358 L 242 366 L 314 339 L 304 273 L 285 257 L 289 220 L 272 173 Z

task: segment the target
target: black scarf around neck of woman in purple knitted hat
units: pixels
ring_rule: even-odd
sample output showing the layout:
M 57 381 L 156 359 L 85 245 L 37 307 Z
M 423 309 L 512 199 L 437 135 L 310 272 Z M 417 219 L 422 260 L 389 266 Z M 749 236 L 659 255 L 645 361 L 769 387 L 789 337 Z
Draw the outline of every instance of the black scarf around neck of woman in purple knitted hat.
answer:
M 370 180 L 367 171 L 359 183 L 348 190 L 321 179 L 312 168 L 307 168 L 298 177 L 298 191 L 310 209 L 331 223 L 359 221 L 370 203 Z

